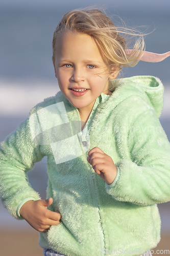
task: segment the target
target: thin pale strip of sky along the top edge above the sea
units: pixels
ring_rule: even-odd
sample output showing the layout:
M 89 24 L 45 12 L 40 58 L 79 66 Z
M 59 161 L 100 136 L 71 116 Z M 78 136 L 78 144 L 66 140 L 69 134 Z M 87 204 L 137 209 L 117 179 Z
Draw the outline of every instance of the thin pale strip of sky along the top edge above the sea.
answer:
M 134 9 L 136 11 L 168 11 L 170 9 L 170 1 L 169 0 L 1 0 L 0 8 L 7 9 L 60 9 L 62 6 L 65 8 L 68 6 L 70 9 L 86 7 L 90 5 L 104 5 L 109 6 L 109 8 L 115 9 Z

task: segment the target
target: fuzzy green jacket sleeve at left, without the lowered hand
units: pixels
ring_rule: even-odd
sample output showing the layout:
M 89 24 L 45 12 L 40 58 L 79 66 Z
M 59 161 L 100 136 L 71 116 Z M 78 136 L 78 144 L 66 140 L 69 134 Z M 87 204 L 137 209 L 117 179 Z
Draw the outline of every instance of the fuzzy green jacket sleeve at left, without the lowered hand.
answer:
M 16 219 L 22 219 L 17 208 L 28 200 L 39 200 L 31 187 L 27 172 L 44 157 L 40 146 L 32 141 L 29 118 L 11 133 L 0 147 L 0 194 L 5 208 Z

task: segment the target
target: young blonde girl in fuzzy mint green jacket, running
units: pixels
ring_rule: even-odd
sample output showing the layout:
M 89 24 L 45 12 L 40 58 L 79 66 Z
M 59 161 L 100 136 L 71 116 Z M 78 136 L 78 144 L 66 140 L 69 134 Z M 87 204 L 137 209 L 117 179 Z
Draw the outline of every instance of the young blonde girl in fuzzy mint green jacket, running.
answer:
M 143 48 L 141 39 L 129 50 L 101 11 L 66 13 L 53 38 L 61 91 L 2 143 L 2 203 L 40 231 L 46 256 L 150 254 L 160 240 L 156 204 L 170 200 L 170 145 L 158 119 L 163 86 L 150 76 L 114 83 L 120 69 L 146 58 Z M 40 200 L 27 171 L 44 156 Z

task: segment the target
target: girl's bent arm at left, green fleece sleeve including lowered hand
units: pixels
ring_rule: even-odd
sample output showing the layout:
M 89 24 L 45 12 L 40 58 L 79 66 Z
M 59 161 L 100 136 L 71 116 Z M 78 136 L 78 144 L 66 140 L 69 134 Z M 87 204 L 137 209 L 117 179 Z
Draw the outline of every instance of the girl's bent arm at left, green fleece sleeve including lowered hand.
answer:
M 53 199 L 40 200 L 30 186 L 27 171 L 42 159 L 39 145 L 32 141 L 29 120 L 22 122 L 2 144 L 0 151 L 1 198 L 10 214 L 25 219 L 33 228 L 46 232 L 60 223 L 60 214 L 47 209 Z

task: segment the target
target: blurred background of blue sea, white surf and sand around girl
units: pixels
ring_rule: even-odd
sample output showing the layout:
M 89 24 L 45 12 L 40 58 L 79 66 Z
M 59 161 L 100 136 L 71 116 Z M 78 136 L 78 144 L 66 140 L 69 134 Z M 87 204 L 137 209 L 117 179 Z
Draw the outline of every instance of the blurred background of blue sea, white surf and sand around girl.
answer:
M 55 95 L 59 88 L 52 63 L 53 32 L 62 16 L 72 9 L 96 6 L 106 11 L 113 22 L 119 16 L 128 27 L 150 33 L 145 36 L 146 50 L 170 51 L 169 0 L 1 0 L 0 2 L 0 141 L 25 120 L 35 104 Z M 160 122 L 170 140 L 170 57 L 160 63 L 140 61 L 134 68 L 125 68 L 124 77 L 153 75 L 165 87 L 164 107 Z M 29 180 L 44 199 L 47 174 L 46 158 L 35 164 Z M 159 205 L 162 239 L 159 254 L 170 249 L 170 204 Z M 128 220 L 127 220 L 128 221 Z M 6 251 L 8 247 L 8 251 Z M 42 255 L 38 232 L 26 221 L 12 218 L 0 203 L 1 255 Z M 156 254 L 156 249 L 155 252 Z M 89 255 L 90 256 L 90 255 Z

